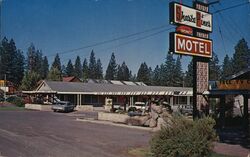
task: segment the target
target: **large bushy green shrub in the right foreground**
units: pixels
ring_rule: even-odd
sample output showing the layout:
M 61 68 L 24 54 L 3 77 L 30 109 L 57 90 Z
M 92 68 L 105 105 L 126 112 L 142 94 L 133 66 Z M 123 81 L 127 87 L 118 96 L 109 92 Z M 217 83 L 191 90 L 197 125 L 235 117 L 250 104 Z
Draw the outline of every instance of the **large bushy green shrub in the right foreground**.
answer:
M 152 156 L 155 157 L 204 157 L 213 148 L 216 133 L 215 121 L 205 117 L 188 120 L 173 117 L 171 126 L 162 128 L 150 141 Z

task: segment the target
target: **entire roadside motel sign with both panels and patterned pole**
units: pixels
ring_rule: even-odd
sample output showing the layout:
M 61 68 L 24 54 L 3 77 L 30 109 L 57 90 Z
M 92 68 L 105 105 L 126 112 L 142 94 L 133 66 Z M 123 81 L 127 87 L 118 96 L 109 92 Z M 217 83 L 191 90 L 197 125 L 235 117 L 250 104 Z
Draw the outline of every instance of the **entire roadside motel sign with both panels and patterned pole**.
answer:
M 169 35 L 169 52 L 193 56 L 193 118 L 199 110 L 208 108 L 202 93 L 208 89 L 208 62 L 212 58 L 213 42 L 212 14 L 209 5 L 194 1 L 193 7 L 180 3 L 169 4 L 170 24 L 177 25 L 176 31 Z M 204 110 L 205 111 L 205 110 Z

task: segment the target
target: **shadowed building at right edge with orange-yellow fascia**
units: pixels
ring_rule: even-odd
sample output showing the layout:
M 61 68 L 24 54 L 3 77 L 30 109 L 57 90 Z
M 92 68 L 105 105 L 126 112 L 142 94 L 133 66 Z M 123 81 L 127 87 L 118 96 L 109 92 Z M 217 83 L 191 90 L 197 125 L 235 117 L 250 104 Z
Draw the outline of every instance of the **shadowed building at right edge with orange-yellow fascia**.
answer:
M 250 129 L 250 67 L 225 80 L 210 82 L 209 90 L 203 94 L 209 98 L 210 107 L 213 102 L 219 104 L 218 112 L 222 126 L 225 118 L 231 114 L 233 117 L 242 117 L 241 126 Z

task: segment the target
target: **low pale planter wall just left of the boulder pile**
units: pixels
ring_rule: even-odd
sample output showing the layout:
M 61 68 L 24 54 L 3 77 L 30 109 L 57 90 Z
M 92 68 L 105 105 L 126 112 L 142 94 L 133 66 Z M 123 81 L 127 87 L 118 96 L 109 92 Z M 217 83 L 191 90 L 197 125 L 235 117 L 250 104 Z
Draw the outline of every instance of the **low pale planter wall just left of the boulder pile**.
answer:
M 125 124 L 128 118 L 126 114 L 98 112 L 98 120 Z

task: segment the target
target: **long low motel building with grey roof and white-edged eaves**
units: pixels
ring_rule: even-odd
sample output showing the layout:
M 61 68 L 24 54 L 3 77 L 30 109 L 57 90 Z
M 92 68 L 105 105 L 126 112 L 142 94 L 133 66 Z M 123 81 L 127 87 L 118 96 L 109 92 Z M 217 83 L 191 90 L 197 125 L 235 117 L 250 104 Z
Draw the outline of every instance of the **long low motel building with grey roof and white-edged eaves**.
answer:
M 142 82 L 88 80 L 83 82 L 47 81 L 36 90 L 23 91 L 32 104 L 51 104 L 56 101 L 70 101 L 77 110 L 100 109 L 105 105 L 123 107 L 136 102 L 162 100 L 175 110 L 183 105 L 192 105 L 192 88 L 147 86 Z M 48 106 L 48 105 L 47 105 Z

